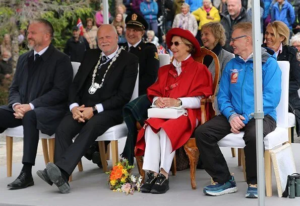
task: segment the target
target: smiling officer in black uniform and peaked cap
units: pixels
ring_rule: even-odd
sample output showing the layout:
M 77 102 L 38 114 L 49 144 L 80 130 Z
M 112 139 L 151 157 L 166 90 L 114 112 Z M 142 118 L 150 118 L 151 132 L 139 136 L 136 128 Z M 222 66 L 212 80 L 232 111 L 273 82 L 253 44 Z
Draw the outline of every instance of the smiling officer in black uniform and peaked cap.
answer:
M 159 68 L 157 48 L 154 44 L 142 40 L 148 29 L 148 23 L 141 15 L 135 13 L 128 15 L 125 23 L 127 43 L 120 46 L 139 57 L 139 95 L 146 94 L 147 88 L 157 78 Z

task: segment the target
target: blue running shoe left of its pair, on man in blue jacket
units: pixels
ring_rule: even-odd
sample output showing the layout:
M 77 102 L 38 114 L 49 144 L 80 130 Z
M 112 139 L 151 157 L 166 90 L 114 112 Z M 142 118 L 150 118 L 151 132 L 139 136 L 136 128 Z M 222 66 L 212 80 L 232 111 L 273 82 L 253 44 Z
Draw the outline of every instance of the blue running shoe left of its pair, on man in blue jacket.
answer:
M 233 193 L 236 191 L 237 191 L 237 187 L 233 176 L 231 176 L 231 178 L 223 184 L 220 184 L 218 182 L 213 182 L 211 183 L 211 185 L 208 185 L 203 189 L 204 194 L 208 194 L 212 196 L 219 196 L 227 193 Z

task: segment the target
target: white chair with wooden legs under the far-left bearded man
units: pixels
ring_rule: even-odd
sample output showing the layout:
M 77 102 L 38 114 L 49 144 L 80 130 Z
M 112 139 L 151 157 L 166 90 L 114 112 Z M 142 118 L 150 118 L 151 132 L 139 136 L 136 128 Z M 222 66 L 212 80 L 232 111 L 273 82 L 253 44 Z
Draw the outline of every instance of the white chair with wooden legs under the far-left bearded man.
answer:
M 73 79 L 80 66 L 79 62 L 71 62 L 73 67 Z M 23 126 L 8 128 L 5 131 L 6 135 L 6 161 L 7 161 L 7 176 L 12 176 L 12 162 L 13 162 L 13 137 L 23 137 Z M 39 138 L 42 141 L 43 155 L 45 164 L 54 162 L 54 137 L 55 134 L 48 136 L 39 131 Z M 48 140 L 48 143 L 47 143 Z M 49 144 L 49 149 L 48 149 Z

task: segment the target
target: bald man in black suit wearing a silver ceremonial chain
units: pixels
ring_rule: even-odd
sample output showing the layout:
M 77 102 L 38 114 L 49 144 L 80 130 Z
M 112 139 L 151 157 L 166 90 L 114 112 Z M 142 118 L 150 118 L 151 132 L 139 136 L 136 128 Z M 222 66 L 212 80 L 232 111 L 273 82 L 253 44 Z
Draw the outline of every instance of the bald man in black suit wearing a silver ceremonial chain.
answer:
M 62 193 L 69 192 L 69 176 L 90 145 L 110 127 L 123 122 L 122 108 L 131 99 L 138 74 L 138 58 L 118 47 L 112 25 L 101 25 L 97 38 L 102 52 L 86 51 L 70 88 L 71 112 L 55 132 L 55 164 L 48 163 L 46 169 L 37 171 Z

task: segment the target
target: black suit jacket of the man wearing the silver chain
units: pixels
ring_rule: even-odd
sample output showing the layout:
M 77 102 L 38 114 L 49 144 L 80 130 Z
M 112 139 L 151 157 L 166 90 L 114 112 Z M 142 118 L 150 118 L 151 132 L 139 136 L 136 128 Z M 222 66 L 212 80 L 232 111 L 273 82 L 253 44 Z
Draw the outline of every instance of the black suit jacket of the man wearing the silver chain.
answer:
M 69 106 L 75 102 L 81 102 L 80 94 L 84 88 L 83 85 L 94 70 L 100 54 L 101 50 L 99 49 L 90 49 L 85 52 L 84 59 L 70 87 Z M 102 79 L 104 76 L 108 65 L 109 63 L 100 68 L 99 79 Z M 104 111 L 109 111 L 114 118 L 122 118 L 122 108 L 131 99 L 137 74 L 138 58 L 122 50 L 107 71 L 103 87 L 98 89 L 99 92 L 95 93 L 99 99 L 97 104 L 101 103 Z M 101 82 L 98 83 L 100 84 Z

